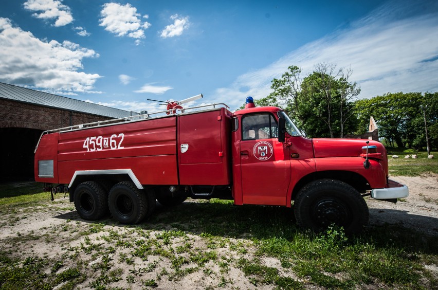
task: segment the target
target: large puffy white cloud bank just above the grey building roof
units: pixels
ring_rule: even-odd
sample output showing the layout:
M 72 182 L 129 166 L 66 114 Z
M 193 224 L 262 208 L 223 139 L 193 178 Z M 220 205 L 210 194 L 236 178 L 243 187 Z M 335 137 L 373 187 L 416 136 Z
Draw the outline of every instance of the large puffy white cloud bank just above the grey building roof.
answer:
M 78 71 L 82 59 L 99 54 L 76 43 L 42 41 L 0 17 L 0 81 L 54 94 L 92 93 L 101 76 Z M 99 92 L 94 92 L 99 93 Z

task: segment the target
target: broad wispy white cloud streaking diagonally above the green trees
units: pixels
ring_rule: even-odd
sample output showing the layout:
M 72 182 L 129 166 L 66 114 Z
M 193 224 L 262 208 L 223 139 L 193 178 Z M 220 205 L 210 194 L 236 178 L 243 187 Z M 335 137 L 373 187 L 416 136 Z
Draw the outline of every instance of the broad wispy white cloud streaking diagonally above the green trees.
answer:
M 438 91 L 438 15 L 428 10 L 409 15 L 415 4 L 406 8 L 406 3 L 394 7 L 396 4 L 379 7 L 349 29 L 308 43 L 265 68 L 239 76 L 229 87 L 218 88 L 214 99 L 239 107 L 246 96 L 267 96 L 272 91 L 271 80 L 281 77 L 288 66 L 301 67 L 305 77 L 321 62 L 351 66 L 351 80 L 361 87 L 360 98 L 388 92 Z M 401 13 L 400 9 L 406 10 Z

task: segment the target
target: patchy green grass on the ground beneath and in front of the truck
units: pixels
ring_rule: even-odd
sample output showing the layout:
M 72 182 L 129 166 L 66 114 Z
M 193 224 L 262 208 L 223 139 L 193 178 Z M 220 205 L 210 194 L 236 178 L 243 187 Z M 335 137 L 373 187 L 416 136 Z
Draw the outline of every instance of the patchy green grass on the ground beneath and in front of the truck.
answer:
M 406 160 L 419 159 L 396 161 Z M 0 218 L 50 210 L 41 207 L 50 194 L 38 188 L 2 185 Z M 68 198 L 53 204 L 50 216 L 73 210 Z M 61 253 L 48 258 L 33 252 L 36 243 L 57 245 Z M 204 288 L 236 288 L 230 278 L 236 270 L 255 287 L 277 289 L 438 288 L 437 274 L 425 266 L 436 261 L 438 238 L 413 229 L 385 225 L 348 236 L 331 227 L 315 234 L 296 227 L 291 209 L 212 199 L 159 207 L 136 226 L 86 223 L 76 215 L 38 233 L 16 231 L 0 241 L 0 289 L 104 289 L 122 282 L 154 288 L 194 273 L 210 281 Z

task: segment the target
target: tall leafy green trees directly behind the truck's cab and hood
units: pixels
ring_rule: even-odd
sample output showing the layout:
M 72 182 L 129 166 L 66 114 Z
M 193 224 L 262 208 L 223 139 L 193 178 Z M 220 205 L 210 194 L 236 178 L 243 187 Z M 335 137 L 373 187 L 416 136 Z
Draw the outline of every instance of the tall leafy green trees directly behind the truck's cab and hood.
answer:
M 360 88 L 349 81 L 352 70 L 321 63 L 305 78 L 301 72 L 289 66 L 280 79 L 272 80 L 273 92 L 258 102 L 282 107 L 309 137 L 343 137 L 355 131 L 351 101 Z

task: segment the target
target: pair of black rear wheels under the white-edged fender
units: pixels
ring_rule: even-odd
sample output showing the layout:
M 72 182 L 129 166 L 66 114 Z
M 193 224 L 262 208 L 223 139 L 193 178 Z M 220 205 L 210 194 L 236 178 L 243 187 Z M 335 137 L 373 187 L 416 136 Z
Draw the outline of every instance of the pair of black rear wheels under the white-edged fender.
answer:
M 111 212 L 123 224 L 137 224 L 155 209 L 155 194 L 140 190 L 132 182 L 120 182 L 108 191 L 98 182 L 81 183 L 75 190 L 74 201 L 78 214 L 84 220 L 95 221 Z

